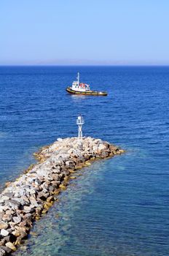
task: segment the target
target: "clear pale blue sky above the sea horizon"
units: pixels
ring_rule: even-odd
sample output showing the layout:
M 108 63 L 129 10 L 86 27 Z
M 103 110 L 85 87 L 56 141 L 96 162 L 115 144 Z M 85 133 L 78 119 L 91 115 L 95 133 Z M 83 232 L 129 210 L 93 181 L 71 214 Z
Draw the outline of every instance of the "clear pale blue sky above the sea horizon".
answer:
M 0 64 L 169 64 L 168 0 L 1 0 Z

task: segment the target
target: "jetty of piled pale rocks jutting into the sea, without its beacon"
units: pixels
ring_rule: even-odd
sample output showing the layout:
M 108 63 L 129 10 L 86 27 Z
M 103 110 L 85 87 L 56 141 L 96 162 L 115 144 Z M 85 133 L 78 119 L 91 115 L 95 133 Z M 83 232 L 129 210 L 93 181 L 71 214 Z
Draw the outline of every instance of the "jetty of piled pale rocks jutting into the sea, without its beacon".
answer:
M 69 178 L 95 159 L 113 157 L 124 151 L 100 139 L 58 139 L 35 153 L 31 165 L 16 181 L 8 183 L 0 195 L 0 256 L 17 249 L 28 235 L 34 220 L 57 200 Z

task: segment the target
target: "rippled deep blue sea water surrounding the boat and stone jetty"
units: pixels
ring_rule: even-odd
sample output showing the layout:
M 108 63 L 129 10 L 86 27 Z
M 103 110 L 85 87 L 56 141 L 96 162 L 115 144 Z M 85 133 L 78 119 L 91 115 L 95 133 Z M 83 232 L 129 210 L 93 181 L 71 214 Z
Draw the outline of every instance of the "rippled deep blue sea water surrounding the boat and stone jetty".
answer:
M 78 71 L 108 97 L 67 94 Z M 169 255 L 169 67 L 0 67 L 0 90 L 0 189 L 79 113 L 127 150 L 80 170 L 15 255 Z

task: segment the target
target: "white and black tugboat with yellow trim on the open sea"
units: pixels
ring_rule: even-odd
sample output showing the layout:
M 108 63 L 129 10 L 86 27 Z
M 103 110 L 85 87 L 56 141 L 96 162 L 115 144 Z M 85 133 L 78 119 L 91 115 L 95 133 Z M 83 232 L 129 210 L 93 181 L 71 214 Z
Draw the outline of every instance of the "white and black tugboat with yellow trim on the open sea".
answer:
M 95 95 L 95 96 L 107 96 L 106 91 L 92 91 L 90 85 L 87 83 L 79 82 L 79 72 L 77 73 L 77 80 L 72 83 L 72 86 L 68 86 L 66 91 L 69 94 L 79 94 L 79 95 Z

